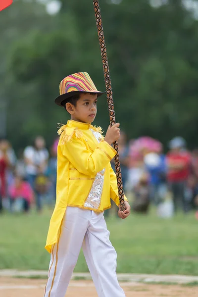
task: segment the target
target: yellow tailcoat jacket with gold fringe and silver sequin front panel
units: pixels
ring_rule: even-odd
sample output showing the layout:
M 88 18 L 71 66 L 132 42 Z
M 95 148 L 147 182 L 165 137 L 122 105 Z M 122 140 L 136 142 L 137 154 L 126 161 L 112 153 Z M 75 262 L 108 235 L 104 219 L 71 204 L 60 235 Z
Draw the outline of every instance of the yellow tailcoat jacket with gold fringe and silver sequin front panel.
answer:
M 116 151 L 103 141 L 101 128 L 70 120 L 58 132 L 56 204 L 45 247 L 49 252 L 57 243 L 67 206 L 101 212 L 111 207 L 110 198 L 119 205 L 110 165 Z

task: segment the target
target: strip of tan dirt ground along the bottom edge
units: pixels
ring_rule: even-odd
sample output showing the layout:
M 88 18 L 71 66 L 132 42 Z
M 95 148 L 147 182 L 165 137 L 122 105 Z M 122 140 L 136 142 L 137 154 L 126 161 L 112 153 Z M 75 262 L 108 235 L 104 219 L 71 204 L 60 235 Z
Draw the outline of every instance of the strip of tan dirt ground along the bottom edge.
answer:
M 46 280 L 0 277 L 0 297 L 43 297 Z M 120 283 L 126 297 L 196 297 L 198 287 Z M 91 281 L 71 281 L 67 297 L 97 297 Z

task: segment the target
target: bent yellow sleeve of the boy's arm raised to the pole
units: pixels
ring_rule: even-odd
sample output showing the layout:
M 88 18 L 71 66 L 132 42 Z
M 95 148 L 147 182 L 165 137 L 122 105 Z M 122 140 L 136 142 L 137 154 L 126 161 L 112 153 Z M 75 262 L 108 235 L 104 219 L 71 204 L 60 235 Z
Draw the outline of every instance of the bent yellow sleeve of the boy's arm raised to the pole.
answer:
M 81 173 L 96 175 L 104 169 L 116 154 L 116 151 L 105 141 L 101 141 L 98 147 L 90 152 L 80 138 L 62 145 L 62 154 Z

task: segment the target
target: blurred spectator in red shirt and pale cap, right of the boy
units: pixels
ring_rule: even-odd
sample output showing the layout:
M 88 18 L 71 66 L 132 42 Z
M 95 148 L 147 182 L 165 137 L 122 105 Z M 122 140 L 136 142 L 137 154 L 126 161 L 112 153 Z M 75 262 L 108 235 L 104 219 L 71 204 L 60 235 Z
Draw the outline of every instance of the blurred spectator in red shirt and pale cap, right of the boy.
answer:
M 179 205 L 183 206 L 184 212 L 189 210 L 189 201 L 185 198 L 187 181 L 190 176 L 191 155 L 185 150 L 185 140 L 175 137 L 170 141 L 170 151 L 166 156 L 167 179 L 173 195 L 174 210 Z

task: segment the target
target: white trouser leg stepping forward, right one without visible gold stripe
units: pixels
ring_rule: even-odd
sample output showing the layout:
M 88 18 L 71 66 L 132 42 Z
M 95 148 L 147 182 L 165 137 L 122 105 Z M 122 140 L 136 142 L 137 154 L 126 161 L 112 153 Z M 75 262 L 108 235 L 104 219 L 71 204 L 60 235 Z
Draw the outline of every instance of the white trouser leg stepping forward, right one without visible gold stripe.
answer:
M 84 255 L 99 297 L 125 297 L 116 276 L 117 254 L 103 213 L 92 212 L 83 241 Z

